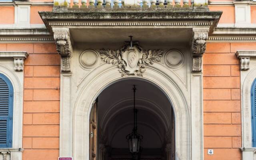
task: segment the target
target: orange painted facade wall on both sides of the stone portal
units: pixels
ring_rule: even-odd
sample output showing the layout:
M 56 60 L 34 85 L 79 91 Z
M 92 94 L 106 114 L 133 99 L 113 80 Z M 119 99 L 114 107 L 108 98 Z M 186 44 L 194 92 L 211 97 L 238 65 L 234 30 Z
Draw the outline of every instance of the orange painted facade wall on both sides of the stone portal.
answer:
M 209 8 L 223 11 L 219 24 L 235 24 L 235 6 L 209 5 Z M 38 11 L 52 11 L 52 6 L 31 6 L 30 24 L 43 24 Z M 256 24 L 256 4 L 250 6 L 250 14 L 251 23 Z M 14 6 L 0 6 L 0 24 L 14 24 Z M 242 160 L 240 60 L 235 55 L 238 50 L 256 50 L 256 42 L 207 42 L 206 45 L 204 160 Z M 0 51 L 29 53 L 24 64 L 23 160 L 57 160 L 60 55 L 55 43 L 0 43 Z M 214 155 L 207 154 L 210 148 L 214 149 Z

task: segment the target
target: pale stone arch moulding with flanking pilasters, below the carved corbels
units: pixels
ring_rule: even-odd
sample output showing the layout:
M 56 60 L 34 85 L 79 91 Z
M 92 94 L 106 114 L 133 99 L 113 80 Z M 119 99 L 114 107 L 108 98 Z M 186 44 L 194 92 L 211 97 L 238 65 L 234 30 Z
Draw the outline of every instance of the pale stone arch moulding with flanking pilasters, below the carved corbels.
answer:
M 72 74 L 61 74 L 60 156 L 89 160 L 92 103 L 111 84 L 136 78 L 157 86 L 173 106 L 176 160 L 203 160 L 202 73 L 188 73 L 190 83 L 187 88 L 180 85 L 173 72 L 159 63 L 147 66 L 143 77 L 125 78 L 120 76 L 116 66 L 101 64 L 86 75 L 78 86 L 72 83 L 75 79 Z

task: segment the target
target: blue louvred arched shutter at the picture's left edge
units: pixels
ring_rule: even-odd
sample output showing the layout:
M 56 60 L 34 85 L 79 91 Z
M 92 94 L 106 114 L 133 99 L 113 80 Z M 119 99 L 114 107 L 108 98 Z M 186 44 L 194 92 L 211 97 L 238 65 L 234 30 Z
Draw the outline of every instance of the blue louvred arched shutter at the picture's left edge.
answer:
M 12 83 L 4 74 L 0 74 L 0 148 L 12 147 L 12 115 Z

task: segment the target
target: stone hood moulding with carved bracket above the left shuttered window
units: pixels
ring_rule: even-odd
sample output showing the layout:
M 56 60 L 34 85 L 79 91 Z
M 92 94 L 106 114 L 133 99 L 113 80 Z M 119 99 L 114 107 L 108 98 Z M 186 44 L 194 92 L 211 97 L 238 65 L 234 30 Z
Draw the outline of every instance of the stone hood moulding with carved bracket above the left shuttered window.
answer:
M 24 70 L 24 60 L 28 57 L 27 52 L 0 52 L 0 58 L 14 58 L 14 70 L 23 71 Z

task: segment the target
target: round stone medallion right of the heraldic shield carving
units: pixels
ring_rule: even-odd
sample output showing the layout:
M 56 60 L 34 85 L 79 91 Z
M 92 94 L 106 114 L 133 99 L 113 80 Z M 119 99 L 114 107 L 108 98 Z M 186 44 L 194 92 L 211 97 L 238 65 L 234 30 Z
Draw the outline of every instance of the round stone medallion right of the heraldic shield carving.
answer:
M 165 55 L 165 63 L 171 68 L 177 68 L 183 63 L 183 54 L 178 50 L 170 50 Z

